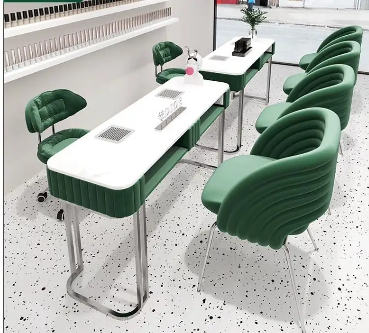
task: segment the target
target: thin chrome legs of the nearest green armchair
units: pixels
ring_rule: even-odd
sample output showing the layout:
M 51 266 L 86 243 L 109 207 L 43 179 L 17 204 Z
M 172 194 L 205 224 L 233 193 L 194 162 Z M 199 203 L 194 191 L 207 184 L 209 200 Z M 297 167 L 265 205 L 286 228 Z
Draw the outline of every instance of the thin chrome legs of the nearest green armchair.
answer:
M 211 243 L 212 243 L 213 238 L 214 238 L 214 232 L 215 232 L 216 227 L 217 227 L 217 222 L 214 222 L 213 225 L 210 228 L 210 231 L 209 231 L 208 244 L 206 246 L 204 264 L 202 265 L 202 270 L 201 270 L 200 278 L 199 278 L 198 285 L 197 285 L 197 291 L 201 290 L 202 281 L 203 281 L 204 273 L 205 273 L 205 268 L 206 268 L 206 264 L 207 264 L 207 261 L 208 261 L 208 258 L 209 258 Z M 315 250 L 318 250 L 318 246 L 315 243 L 312 232 L 309 228 L 307 228 L 307 232 L 309 234 L 311 242 L 314 245 Z M 288 271 L 290 273 L 292 289 L 293 289 L 294 296 L 295 296 L 295 303 L 296 303 L 296 308 L 297 308 L 297 313 L 298 313 L 298 319 L 299 319 L 300 325 L 301 325 L 301 331 L 302 331 L 302 333 L 306 333 L 305 321 L 304 321 L 302 311 L 300 309 L 299 300 L 298 300 L 298 293 L 297 293 L 297 288 L 296 288 L 294 270 L 293 270 L 293 267 L 292 267 L 292 262 L 291 262 L 291 257 L 290 257 L 290 251 L 287 247 L 287 237 L 286 237 L 286 239 L 283 243 L 282 249 L 283 249 L 283 251 L 286 255 L 286 261 L 287 261 Z

